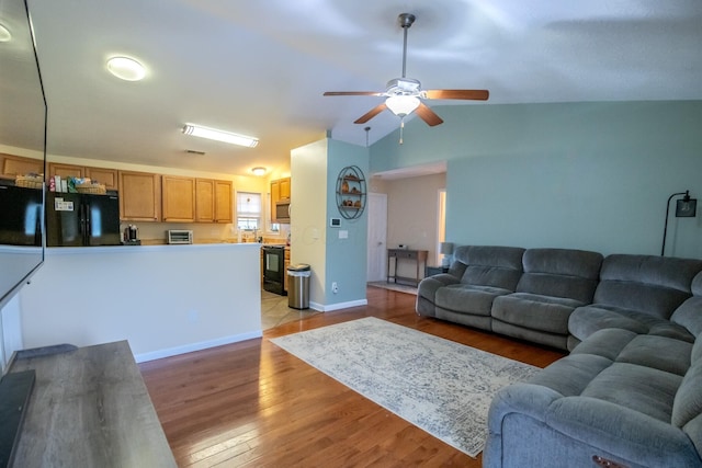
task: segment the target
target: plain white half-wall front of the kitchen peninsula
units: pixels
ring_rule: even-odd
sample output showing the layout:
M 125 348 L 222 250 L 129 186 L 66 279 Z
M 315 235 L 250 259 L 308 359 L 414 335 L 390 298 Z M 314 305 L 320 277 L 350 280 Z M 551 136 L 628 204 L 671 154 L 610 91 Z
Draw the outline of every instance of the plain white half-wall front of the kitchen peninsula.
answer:
M 26 349 L 128 340 L 143 362 L 259 338 L 260 244 L 48 248 L 20 298 Z

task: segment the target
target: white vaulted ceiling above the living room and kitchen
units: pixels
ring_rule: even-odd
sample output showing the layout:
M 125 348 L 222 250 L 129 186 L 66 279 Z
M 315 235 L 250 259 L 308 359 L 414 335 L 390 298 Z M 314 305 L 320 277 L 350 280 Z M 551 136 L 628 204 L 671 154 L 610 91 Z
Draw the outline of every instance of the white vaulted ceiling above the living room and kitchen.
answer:
M 702 99 L 699 0 L 29 0 L 48 102 L 48 151 L 208 172 L 281 170 L 325 136 L 366 144 L 353 121 L 401 75 L 424 89 L 488 89 L 487 103 Z M 138 58 L 140 82 L 109 75 Z M 457 102 L 451 102 L 455 104 Z M 441 115 L 440 105 L 431 101 Z M 238 148 L 184 123 L 260 138 Z M 397 128 L 389 112 L 370 142 Z M 186 150 L 205 151 L 205 156 Z

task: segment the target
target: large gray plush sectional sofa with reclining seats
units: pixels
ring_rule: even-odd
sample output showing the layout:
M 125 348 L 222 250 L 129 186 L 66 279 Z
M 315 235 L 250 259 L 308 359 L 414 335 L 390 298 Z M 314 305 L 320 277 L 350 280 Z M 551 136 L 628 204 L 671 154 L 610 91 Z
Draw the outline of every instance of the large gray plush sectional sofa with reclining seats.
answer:
M 490 407 L 484 467 L 702 467 L 702 260 L 461 247 L 417 311 L 570 354 Z

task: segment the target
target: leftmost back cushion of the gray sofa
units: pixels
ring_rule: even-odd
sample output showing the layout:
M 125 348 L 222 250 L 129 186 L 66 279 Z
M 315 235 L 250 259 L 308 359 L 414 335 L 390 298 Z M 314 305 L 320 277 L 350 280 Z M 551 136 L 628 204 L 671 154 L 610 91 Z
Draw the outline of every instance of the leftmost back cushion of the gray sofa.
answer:
M 514 290 L 522 274 L 519 247 L 461 246 L 455 260 L 466 264 L 461 283 Z

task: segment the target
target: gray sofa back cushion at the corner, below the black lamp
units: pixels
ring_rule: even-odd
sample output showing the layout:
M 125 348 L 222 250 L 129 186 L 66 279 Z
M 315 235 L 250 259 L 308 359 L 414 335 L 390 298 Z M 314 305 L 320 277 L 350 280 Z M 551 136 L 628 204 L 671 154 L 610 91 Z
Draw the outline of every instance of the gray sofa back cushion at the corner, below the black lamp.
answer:
M 692 278 L 700 271 L 702 260 L 608 255 L 602 262 L 595 303 L 670 319 L 673 310 L 691 296 Z

